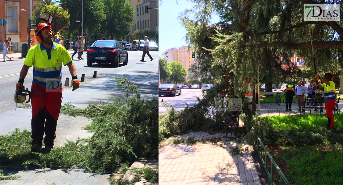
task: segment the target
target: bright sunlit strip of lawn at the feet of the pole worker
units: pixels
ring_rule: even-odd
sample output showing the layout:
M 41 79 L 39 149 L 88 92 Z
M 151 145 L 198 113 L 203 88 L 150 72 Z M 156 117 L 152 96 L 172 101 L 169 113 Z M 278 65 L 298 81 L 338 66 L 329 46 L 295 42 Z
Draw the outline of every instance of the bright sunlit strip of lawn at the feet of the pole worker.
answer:
M 307 115 L 291 115 L 291 116 L 265 116 L 261 117 L 267 120 L 275 131 L 302 129 L 308 126 L 315 128 L 325 128 L 328 123 L 326 114 L 307 114 Z M 343 113 L 333 114 L 334 127 L 343 127 Z

